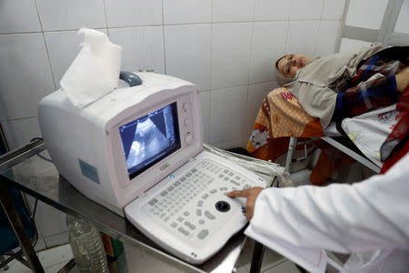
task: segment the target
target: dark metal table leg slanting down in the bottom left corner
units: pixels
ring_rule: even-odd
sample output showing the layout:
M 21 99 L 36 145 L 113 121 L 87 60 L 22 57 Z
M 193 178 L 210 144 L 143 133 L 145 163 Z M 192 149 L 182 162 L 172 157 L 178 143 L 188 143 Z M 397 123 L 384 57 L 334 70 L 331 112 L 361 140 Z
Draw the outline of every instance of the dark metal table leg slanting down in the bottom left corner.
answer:
M 5 209 L 5 215 L 8 218 L 13 230 L 15 231 L 15 236 L 18 238 L 18 242 L 25 254 L 25 257 L 28 259 L 30 268 L 33 272 L 45 272 L 43 266 L 40 263 L 35 250 L 31 245 L 30 239 L 28 238 L 27 233 L 25 232 L 25 227 L 21 223 L 20 217 L 18 217 L 17 211 L 15 210 L 15 205 L 13 200 L 10 197 L 7 187 L 5 187 L 5 181 L 3 181 L 0 176 L 0 203 Z

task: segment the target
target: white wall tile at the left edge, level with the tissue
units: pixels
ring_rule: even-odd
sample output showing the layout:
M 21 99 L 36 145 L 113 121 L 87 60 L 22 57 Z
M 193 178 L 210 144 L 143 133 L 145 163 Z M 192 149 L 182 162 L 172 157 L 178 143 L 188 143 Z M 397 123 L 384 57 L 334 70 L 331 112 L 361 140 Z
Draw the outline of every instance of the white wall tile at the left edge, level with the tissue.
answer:
M 0 35 L 0 45 L 0 120 L 36 116 L 55 88 L 43 35 Z

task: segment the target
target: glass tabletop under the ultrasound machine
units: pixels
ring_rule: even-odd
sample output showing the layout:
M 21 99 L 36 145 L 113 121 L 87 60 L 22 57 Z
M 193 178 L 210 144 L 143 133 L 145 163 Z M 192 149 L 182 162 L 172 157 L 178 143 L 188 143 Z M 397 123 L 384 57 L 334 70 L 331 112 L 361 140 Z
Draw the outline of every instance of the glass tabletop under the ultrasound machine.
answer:
M 58 174 L 52 162 L 45 160 L 49 158 L 46 150 L 39 148 L 32 154 L 20 160 L 21 162 L 14 167 L 1 171 L 1 176 L 5 177 L 3 180 L 67 214 L 85 217 L 92 221 L 101 231 L 113 238 L 130 239 L 156 257 L 171 262 L 185 271 L 232 272 L 244 246 L 245 236 L 243 232 L 239 232 L 231 238 L 224 248 L 204 264 L 199 266 L 190 265 L 157 246 L 124 217 L 116 215 L 109 209 L 82 195 L 64 177 Z

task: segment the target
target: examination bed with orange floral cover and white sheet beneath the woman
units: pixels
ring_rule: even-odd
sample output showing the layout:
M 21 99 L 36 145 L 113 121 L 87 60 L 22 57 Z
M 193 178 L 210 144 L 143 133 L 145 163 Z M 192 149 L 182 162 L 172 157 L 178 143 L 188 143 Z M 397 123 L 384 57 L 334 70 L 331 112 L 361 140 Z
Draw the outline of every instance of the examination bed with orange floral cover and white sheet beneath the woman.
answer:
M 296 161 L 295 150 L 304 150 L 304 157 L 307 157 L 316 145 L 322 146 L 325 143 L 326 147 L 330 145 L 343 152 L 343 156 L 339 156 L 343 163 L 337 163 L 338 167 L 348 163 L 347 158 L 351 162 L 352 157 L 379 173 L 383 164 L 380 160 L 380 147 L 398 119 L 399 112 L 395 110 L 395 105 L 378 108 L 361 116 L 345 118 L 339 125 L 344 131 L 340 133 L 334 123 L 323 128 L 318 118 L 309 116 L 296 97 L 287 88 L 281 87 L 264 98 L 246 148 L 254 157 L 272 162 L 287 153 L 285 168 L 291 172 Z M 331 154 L 327 156 L 334 160 Z M 320 162 L 330 164 L 318 159 L 318 163 Z M 312 183 L 321 185 L 323 179 L 328 177 L 320 178 L 319 181 L 311 179 Z

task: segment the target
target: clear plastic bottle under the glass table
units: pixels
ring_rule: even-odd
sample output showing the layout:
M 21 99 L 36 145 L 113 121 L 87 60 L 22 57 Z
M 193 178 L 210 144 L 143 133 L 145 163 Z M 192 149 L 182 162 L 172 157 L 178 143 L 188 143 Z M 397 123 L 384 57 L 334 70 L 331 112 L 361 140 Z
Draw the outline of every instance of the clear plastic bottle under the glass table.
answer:
M 109 272 L 101 235 L 91 223 L 66 215 L 75 264 L 80 272 Z

